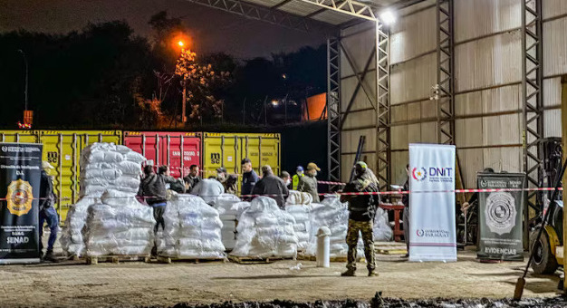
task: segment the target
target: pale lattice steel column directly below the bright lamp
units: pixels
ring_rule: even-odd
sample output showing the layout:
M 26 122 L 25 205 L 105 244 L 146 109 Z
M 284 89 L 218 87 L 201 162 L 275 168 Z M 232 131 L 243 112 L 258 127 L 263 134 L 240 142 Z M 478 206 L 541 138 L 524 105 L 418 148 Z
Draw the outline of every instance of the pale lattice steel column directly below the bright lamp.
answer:
M 380 190 L 388 190 L 391 167 L 389 30 L 376 22 L 376 169 Z

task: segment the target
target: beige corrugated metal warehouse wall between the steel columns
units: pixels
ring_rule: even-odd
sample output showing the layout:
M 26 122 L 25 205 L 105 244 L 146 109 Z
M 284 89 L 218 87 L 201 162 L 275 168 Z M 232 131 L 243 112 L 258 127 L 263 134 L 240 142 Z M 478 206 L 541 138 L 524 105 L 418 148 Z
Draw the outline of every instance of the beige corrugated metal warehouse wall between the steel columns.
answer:
M 476 187 L 476 172 L 482 168 L 510 172 L 523 168 L 522 0 L 454 1 L 455 139 L 465 186 L 472 188 Z M 435 3 L 430 0 L 405 9 L 390 30 L 393 183 L 402 183 L 406 178 L 408 143 L 437 142 L 437 106 L 429 100 L 437 83 Z M 343 33 L 348 31 L 352 32 L 347 29 Z M 561 136 L 560 75 L 567 73 L 566 33 L 567 1 L 543 1 L 545 137 Z M 355 61 L 360 67 L 375 43 L 373 34 L 373 31 L 360 33 L 356 39 L 344 42 L 353 53 L 358 49 Z M 352 72 L 342 75 L 349 76 Z M 369 86 L 375 89 L 374 73 L 368 77 Z M 341 82 L 343 108 L 354 85 L 356 79 L 352 78 Z M 359 96 L 358 108 L 370 107 L 363 100 L 363 91 Z M 375 125 L 372 112 L 352 113 L 347 120 L 349 127 Z M 348 125 L 345 123 L 345 127 Z M 361 133 L 367 134 L 370 141 L 366 151 L 375 150 L 374 131 L 370 128 L 343 132 L 342 152 L 355 152 Z M 349 155 L 342 158 L 344 178 L 352 159 Z

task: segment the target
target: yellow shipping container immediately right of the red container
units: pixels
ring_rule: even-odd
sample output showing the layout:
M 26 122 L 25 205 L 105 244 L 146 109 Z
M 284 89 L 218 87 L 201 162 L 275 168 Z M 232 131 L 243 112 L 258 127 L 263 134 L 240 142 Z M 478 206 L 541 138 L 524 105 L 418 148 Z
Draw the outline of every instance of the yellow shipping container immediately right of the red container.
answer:
M 203 174 L 204 178 L 216 175 L 216 168 L 225 167 L 228 173 L 242 174 L 240 161 L 248 158 L 252 168 L 262 176 L 260 168 L 270 165 L 274 174 L 279 176 L 280 168 L 280 134 L 248 134 L 248 133 L 203 133 Z M 240 189 L 242 177 L 238 177 Z

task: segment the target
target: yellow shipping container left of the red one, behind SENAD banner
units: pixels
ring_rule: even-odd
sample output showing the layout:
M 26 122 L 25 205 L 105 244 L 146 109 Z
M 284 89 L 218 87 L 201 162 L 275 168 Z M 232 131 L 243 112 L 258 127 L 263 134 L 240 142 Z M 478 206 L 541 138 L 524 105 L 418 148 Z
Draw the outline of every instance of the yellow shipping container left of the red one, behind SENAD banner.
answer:
M 43 160 L 54 169 L 53 190 L 59 197 L 55 208 L 61 223 L 69 208 L 79 199 L 79 160 L 81 151 L 94 142 L 122 144 L 120 130 L 4 130 L 0 131 L 4 142 L 43 143 Z

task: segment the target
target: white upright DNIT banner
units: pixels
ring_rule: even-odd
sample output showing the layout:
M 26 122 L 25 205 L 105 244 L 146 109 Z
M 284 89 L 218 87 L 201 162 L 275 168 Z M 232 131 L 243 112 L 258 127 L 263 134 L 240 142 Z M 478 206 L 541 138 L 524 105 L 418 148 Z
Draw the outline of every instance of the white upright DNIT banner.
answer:
M 409 144 L 409 261 L 456 261 L 455 166 L 455 146 Z

